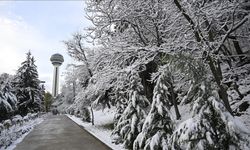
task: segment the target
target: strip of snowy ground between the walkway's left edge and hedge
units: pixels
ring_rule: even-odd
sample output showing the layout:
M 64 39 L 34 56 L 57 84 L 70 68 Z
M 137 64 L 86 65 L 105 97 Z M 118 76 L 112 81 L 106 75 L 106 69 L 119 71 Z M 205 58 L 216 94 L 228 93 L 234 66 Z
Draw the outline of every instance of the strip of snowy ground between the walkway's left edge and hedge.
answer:
M 36 125 L 44 120 L 44 117 L 45 116 L 41 116 L 31 119 L 27 122 L 23 122 L 23 124 L 13 125 L 8 130 L 3 130 L 0 134 L 0 150 L 13 150 Z

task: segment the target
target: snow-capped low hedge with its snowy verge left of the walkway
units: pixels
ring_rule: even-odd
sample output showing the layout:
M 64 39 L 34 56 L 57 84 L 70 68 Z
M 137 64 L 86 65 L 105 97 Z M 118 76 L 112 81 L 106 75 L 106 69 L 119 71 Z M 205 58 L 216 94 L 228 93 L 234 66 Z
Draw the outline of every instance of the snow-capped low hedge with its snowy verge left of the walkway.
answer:
M 0 150 L 14 149 L 16 144 L 20 143 L 23 138 L 43 121 L 43 116 L 37 113 L 27 114 L 25 117 L 17 115 L 11 120 L 5 120 L 0 123 Z

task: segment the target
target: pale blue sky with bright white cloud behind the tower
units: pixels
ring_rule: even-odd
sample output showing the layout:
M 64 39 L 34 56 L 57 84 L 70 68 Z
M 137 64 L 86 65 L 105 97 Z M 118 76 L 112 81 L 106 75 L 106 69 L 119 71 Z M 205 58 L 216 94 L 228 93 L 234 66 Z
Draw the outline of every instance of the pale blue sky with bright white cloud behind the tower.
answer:
M 61 53 L 66 64 L 63 40 L 90 23 L 85 19 L 83 1 L 0 1 L 0 73 L 15 74 L 29 50 L 36 59 L 40 80 L 51 91 L 53 66 L 49 61 Z M 63 76 L 60 76 L 63 79 Z M 62 81 L 61 81 L 62 83 Z

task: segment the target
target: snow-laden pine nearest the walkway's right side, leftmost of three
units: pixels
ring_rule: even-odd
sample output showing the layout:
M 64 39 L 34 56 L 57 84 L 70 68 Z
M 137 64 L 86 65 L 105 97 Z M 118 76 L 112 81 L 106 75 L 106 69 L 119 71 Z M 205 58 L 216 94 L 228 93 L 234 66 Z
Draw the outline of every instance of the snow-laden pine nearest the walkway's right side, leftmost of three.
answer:
M 132 149 L 135 138 L 141 132 L 146 117 L 145 109 L 149 102 L 143 93 L 143 86 L 138 73 L 132 72 L 129 80 L 128 105 L 112 134 L 118 136 L 115 139 L 116 141 L 120 140 L 124 147 Z

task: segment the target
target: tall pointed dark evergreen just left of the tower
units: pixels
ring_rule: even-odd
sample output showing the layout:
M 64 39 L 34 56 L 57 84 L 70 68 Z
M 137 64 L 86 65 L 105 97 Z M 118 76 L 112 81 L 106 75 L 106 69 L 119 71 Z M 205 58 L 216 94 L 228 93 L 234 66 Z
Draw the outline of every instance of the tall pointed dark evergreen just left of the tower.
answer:
M 40 111 L 42 94 L 39 82 L 34 57 L 28 52 L 26 60 L 17 70 L 14 82 L 20 114 Z

